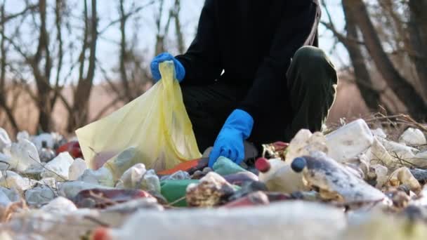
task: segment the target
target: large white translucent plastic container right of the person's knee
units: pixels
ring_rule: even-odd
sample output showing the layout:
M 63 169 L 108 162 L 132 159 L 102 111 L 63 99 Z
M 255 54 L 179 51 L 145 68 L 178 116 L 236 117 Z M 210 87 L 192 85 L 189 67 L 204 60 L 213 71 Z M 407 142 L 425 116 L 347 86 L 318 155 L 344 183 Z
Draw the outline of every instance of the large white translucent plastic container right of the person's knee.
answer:
M 351 122 L 326 136 L 329 156 L 343 162 L 353 159 L 371 147 L 374 141 L 369 127 L 363 119 Z

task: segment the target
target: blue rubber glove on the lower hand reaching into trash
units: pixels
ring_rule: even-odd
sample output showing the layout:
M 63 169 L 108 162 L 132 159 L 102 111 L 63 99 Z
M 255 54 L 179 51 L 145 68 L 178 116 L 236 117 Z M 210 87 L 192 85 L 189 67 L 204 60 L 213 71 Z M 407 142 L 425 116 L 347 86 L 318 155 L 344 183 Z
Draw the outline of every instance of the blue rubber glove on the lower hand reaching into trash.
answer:
M 220 156 L 225 156 L 236 164 L 240 164 L 244 160 L 243 142 L 251 135 L 253 126 L 254 119 L 251 115 L 241 109 L 235 109 L 228 116 L 215 140 L 209 155 L 209 167 L 211 168 Z

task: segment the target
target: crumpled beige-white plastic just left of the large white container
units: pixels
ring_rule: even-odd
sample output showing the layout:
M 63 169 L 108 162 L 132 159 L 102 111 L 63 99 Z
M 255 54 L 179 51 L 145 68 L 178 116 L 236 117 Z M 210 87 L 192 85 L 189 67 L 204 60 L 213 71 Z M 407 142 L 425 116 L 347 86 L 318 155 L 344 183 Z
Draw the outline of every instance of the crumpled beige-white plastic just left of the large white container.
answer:
M 315 151 L 328 154 L 326 138 L 322 133 L 311 133 L 307 129 L 301 129 L 287 147 L 286 161 L 291 163 L 296 157 L 308 155 Z

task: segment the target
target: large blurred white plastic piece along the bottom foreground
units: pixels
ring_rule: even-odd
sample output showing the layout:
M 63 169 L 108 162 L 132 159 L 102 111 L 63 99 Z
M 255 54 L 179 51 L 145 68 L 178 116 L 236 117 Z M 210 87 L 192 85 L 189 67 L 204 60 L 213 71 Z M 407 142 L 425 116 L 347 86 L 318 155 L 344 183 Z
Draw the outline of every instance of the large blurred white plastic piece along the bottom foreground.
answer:
M 345 228 L 346 217 L 339 208 L 285 201 L 232 210 L 139 211 L 121 228 L 99 229 L 95 236 L 110 240 L 131 240 L 140 234 L 144 239 L 338 239 Z

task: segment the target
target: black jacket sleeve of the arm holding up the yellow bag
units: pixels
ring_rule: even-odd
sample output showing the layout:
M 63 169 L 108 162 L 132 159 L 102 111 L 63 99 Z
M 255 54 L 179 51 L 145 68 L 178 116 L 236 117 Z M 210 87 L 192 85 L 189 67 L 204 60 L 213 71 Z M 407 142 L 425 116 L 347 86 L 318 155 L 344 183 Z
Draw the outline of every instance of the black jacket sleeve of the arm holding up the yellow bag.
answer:
M 218 49 L 215 4 L 216 0 L 205 1 L 195 39 L 185 54 L 176 56 L 185 68 L 185 84 L 213 81 L 223 71 Z

